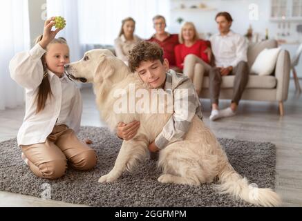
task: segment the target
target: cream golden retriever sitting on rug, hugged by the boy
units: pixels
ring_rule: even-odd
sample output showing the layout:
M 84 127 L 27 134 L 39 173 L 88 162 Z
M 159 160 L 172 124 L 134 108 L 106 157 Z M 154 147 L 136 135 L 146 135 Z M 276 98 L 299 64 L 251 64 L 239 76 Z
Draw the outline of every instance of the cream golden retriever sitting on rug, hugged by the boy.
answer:
M 111 131 L 115 131 L 118 122 L 129 124 L 133 120 L 140 121 L 135 137 L 122 143 L 113 169 L 99 180 L 101 183 L 114 182 L 124 171 L 131 171 L 138 166 L 138 162 L 148 159 L 148 145 L 162 131 L 172 113 L 131 112 L 129 106 L 126 107 L 127 113 L 116 113 L 114 108 L 119 106 L 121 96 L 124 104 L 130 104 L 130 84 L 135 85 L 135 92 L 142 88 L 147 91 L 151 89 L 109 50 L 86 52 L 83 59 L 66 65 L 66 74 L 77 81 L 93 83 L 100 115 Z M 117 92 L 120 90 L 124 93 L 119 97 Z M 138 97 L 135 97 L 135 101 L 138 101 Z M 167 104 L 164 106 L 167 108 Z M 214 133 L 197 116 L 192 120 L 184 140 L 169 143 L 160 151 L 158 167 L 162 171 L 158 181 L 162 183 L 200 185 L 216 180 L 218 184 L 214 187 L 219 193 L 229 193 L 259 206 L 281 204 L 279 195 L 272 189 L 249 184 L 245 177 L 233 169 Z

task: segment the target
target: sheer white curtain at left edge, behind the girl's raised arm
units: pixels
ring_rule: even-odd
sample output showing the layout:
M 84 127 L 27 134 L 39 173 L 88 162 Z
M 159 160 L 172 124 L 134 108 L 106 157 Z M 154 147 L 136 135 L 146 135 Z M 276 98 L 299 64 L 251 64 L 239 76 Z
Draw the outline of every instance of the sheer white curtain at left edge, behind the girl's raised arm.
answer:
M 24 90 L 10 78 L 10 59 L 22 50 L 29 50 L 28 1 L 0 1 L 0 110 L 15 108 L 24 102 Z

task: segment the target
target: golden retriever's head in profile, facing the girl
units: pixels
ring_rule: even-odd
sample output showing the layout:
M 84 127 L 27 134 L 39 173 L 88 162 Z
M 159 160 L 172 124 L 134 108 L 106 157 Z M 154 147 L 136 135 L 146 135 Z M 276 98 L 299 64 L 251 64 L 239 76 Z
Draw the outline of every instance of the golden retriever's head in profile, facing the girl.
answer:
M 106 79 L 112 80 L 116 70 L 121 70 L 116 74 L 119 77 L 129 73 L 126 64 L 107 49 L 90 50 L 81 60 L 65 66 L 66 75 L 82 83 L 102 84 Z

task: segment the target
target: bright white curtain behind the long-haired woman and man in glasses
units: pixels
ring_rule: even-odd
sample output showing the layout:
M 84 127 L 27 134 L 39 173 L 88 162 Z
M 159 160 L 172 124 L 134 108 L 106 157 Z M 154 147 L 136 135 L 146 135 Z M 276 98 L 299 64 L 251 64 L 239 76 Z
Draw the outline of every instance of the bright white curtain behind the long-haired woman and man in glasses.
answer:
M 135 34 L 143 39 L 153 35 L 155 15 L 166 17 L 169 30 L 169 3 L 169 0 L 78 0 L 80 41 L 113 45 L 126 17 L 133 17 Z

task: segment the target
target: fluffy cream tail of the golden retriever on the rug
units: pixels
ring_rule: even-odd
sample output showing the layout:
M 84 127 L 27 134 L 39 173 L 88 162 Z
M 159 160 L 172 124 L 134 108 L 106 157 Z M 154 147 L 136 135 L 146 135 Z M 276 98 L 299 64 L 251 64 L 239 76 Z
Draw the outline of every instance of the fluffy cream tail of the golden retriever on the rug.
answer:
M 220 184 L 215 185 L 219 193 L 229 193 L 258 206 L 279 206 L 281 198 L 272 189 L 258 188 L 256 184 L 249 184 L 247 178 L 239 175 L 227 162 L 218 174 Z

